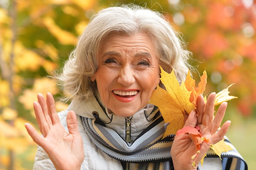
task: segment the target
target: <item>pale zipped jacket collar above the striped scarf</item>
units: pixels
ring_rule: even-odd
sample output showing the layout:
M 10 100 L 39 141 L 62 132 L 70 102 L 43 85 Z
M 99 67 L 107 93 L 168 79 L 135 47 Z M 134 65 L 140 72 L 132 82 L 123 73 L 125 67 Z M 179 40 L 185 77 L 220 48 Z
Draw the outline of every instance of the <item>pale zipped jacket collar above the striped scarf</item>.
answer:
M 136 139 L 136 137 L 149 125 L 155 112 L 153 110 L 155 106 L 153 104 L 147 104 L 144 109 L 139 110 L 132 116 L 130 131 L 131 131 L 131 141 Z M 92 96 L 90 99 L 77 101 L 73 100 L 68 108 L 68 110 L 74 110 L 76 115 L 81 117 L 87 117 L 95 119 L 93 113 L 97 113 L 101 121 L 106 125 L 106 127 L 115 130 L 123 139 L 126 135 L 126 119 L 125 117 L 117 116 L 106 108 L 100 97 L 99 93 L 96 93 L 96 97 Z

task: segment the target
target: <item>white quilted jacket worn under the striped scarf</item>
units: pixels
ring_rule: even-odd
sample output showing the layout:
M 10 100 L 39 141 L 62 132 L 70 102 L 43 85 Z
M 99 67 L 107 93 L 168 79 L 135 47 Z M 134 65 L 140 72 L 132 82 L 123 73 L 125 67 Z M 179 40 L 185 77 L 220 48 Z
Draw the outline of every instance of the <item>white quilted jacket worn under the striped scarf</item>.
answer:
M 85 152 L 81 170 L 122 170 L 121 163 L 118 160 L 109 157 L 92 143 L 88 134 L 83 128 L 83 124 L 79 116 L 94 118 L 92 112 L 97 111 L 101 120 L 106 123 L 106 126 L 116 130 L 116 132 L 123 137 L 123 139 L 125 139 L 126 120 L 124 117 L 119 117 L 117 115 L 108 113 L 108 110 L 106 115 L 94 97 L 88 101 L 89 102 L 72 101 L 67 110 L 58 113 L 61 123 L 66 130 L 66 116 L 68 111 L 74 110 L 78 115 L 77 119 L 79 132 L 83 138 L 83 149 Z M 152 119 L 154 116 L 150 115 L 152 108 L 153 106 L 149 104 L 145 109 L 140 110 L 133 115 L 130 124 L 132 132 L 131 141 L 133 141 L 140 134 L 140 132 L 142 132 L 144 128 L 150 124 L 150 119 Z M 133 165 L 130 165 L 130 167 L 133 167 Z M 33 170 L 55 170 L 52 161 L 40 146 L 38 146 L 38 150 L 36 152 Z M 70 167 L 70 170 L 72 170 L 72 167 Z M 204 159 L 203 167 L 200 166 L 200 170 L 222 170 L 222 163 L 219 158 L 207 158 Z

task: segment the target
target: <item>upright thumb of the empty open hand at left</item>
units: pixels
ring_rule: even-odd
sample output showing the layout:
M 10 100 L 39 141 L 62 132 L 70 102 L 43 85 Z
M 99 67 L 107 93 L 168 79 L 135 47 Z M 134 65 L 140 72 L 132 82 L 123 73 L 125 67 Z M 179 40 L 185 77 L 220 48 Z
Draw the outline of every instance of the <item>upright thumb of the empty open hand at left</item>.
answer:
M 73 110 L 67 113 L 67 129 L 70 135 L 79 135 L 76 113 Z

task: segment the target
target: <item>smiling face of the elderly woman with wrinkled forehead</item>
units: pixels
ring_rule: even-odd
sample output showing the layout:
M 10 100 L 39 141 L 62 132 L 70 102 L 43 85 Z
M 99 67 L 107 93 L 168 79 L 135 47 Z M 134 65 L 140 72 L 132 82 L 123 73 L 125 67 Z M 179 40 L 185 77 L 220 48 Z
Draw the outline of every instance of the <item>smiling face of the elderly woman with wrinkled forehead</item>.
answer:
M 113 113 L 129 117 L 148 103 L 159 84 L 159 62 L 147 34 L 112 35 L 101 42 L 91 80 Z

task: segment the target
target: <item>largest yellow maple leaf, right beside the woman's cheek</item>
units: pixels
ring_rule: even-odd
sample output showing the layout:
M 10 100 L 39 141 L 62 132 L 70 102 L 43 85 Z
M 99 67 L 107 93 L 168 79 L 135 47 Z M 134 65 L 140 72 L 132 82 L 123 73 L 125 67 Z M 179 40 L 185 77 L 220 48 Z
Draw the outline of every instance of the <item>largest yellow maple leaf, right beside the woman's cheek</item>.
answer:
M 157 106 L 162 113 L 165 122 L 169 123 L 164 137 L 175 134 L 184 126 L 184 115 L 188 115 L 195 106 L 189 101 L 191 92 L 186 89 L 184 82 L 180 85 L 173 71 L 168 74 L 162 67 L 161 82 L 166 90 L 157 86 L 149 103 Z M 171 113 L 171 114 L 170 114 Z

